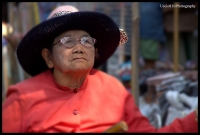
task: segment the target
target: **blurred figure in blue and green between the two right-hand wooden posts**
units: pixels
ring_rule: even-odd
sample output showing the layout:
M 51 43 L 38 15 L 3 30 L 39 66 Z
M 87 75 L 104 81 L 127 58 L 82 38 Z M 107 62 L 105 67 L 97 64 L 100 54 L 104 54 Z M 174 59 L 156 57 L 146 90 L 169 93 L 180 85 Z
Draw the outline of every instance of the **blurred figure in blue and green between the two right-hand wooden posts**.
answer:
M 159 48 L 166 41 L 160 4 L 163 2 L 140 2 L 139 45 L 145 70 L 155 69 L 155 63 L 159 59 Z

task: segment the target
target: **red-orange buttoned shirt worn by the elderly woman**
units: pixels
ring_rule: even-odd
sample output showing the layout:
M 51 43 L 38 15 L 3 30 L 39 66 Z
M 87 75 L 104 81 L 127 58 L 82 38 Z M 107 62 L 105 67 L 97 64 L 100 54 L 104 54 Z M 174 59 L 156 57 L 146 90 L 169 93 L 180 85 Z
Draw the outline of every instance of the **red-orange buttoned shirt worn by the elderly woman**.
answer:
M 99 70 L 92 69 L 75 91 L 56 84 L 50 70 L 10 86 L 2 106 L 2 131 L 103 132 L 125 120 L 129 132 L 198 132 L 194 112 L 156 130 L 124 86 Z

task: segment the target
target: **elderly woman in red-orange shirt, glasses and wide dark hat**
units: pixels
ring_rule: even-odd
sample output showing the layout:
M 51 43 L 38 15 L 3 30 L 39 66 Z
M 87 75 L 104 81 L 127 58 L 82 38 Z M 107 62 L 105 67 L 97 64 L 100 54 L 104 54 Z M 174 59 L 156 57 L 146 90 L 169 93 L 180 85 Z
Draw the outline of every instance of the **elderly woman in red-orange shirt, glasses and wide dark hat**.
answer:
M 104 14 L 57 7 L 18 45 L 32 78 L 9 87 L 3 132 L 103 132 L 120 121 L 127 132 L 198 132 L 195 112 L 155 129 L 124 86 L 97 69 L 126 40 Z

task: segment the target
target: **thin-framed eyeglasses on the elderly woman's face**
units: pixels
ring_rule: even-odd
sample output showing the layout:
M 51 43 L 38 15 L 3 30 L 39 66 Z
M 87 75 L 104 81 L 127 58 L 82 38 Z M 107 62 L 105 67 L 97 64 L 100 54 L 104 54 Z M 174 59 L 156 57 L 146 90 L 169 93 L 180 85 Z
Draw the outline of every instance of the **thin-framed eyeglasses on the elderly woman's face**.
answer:
M 89 48 L 89 47 L 93 47 L 97 40 L 92 37 L 82 37 L 81 39 L 74 39 L 72 37 L 63 37 L 58 42 L 53 44 L 53 46 L 56 45 L 57 43 L 61 42 L 61 44 L 63 46 L 65 46 L 67 48 L 72 48 L 76 45 L 77 41 L 79 41 L 81 43 L 81 45 Z

